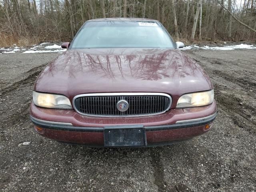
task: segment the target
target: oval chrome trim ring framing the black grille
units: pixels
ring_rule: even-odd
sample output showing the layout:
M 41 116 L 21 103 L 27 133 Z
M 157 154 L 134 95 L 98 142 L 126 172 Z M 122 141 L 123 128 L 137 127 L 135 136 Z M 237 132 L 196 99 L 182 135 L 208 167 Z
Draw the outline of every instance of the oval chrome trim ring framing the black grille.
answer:
M 75 107 L 75 100 L 76 98 L 79 98 L 79 97 L 90 97 L 90 96 L 147 96 L 147 95 L 155 95 L 155 96 L 165 96 L 165 97 L 168 97 L 170 99 L 170 104 L 168 106 L 168 108 L 165 110 L 165 111 L 162 111 L 160 113 L 154 113 L 154 114 L 146 114 L 146 115 L 127 115 L 127 116 L 109 116 L 109 115 L 90 115 L 90 114 L 83 114 L 81 112 L 79 112 L 76 107 Z M 73 98 L 73 101 L 72 101 L 72 104 L 73 104 L 73 108 L 76 112 L 78 112 L 79 114 L 81 115 L 84 115 L 84 116 L 91 116 L 91 117 L 140 117 L 140 116 L 152 116 L 152 115 L 159 115 L 159 114 L 162 114 L 162 113 L 165 113 L 166 111 L 168 111 L 171 106 L 172 106 L 172 97 L 168 94 L 165 94 L 165 93 L 145 93 L 145 92 L 133 92 L 133 93 L 125 93 L 125 92 L 122 92 L 122 93 L 89 93 L 89 94 L 80 94 L 80 95 L 77 95 L 77 96 L 74 96 Z

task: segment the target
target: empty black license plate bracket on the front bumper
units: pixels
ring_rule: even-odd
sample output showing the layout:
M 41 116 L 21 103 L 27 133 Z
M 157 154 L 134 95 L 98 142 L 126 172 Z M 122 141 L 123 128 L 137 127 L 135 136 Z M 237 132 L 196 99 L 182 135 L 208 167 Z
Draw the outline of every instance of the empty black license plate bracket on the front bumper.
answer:
M 143 125 L 104 127 L 105 147 L 142 147 L 146 145 L 146 130 Z

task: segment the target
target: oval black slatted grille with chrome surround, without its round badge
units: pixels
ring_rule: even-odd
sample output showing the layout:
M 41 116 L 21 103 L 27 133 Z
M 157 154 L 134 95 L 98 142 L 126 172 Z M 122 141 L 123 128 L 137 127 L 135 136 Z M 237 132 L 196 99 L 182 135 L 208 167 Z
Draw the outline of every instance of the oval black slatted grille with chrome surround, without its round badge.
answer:
M 117 109 L 117 102 L 126 100 L 129 108 L 125 112 Z M 163 93 L 99 93 L 75 96 L 73 106 L 83 115 L 89 116 L 145 116 L 161 114 L 169 110 L 172 98 Z

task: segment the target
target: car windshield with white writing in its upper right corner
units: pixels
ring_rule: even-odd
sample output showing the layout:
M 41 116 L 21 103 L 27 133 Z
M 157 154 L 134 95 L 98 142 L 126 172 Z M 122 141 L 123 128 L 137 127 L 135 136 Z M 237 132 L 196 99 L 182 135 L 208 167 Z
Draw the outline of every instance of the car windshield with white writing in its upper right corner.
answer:
M 86 22 L 70 48 L 174 48 L 174 44 L 158 22 L 96 21 Z

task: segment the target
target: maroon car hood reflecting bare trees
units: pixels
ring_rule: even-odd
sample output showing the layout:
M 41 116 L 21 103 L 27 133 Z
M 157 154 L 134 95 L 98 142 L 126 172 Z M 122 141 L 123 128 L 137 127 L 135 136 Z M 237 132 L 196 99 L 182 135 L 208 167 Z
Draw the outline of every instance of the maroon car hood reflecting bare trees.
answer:
M 99 92 L 162 92 L 178 97 L 212 89 L 204 70 L 176 49 L 67 50 L 41 72 L 34 90 L 72 99 Z

